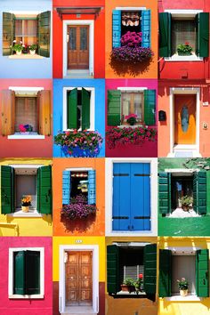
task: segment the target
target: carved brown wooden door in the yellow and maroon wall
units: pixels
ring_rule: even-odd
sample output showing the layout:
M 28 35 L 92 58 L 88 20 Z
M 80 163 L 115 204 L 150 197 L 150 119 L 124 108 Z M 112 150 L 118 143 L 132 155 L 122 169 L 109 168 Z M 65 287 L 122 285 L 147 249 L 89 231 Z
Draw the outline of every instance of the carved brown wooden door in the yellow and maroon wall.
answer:
M 93 253 L 68 252 L 66 305 L 93 305 Z

